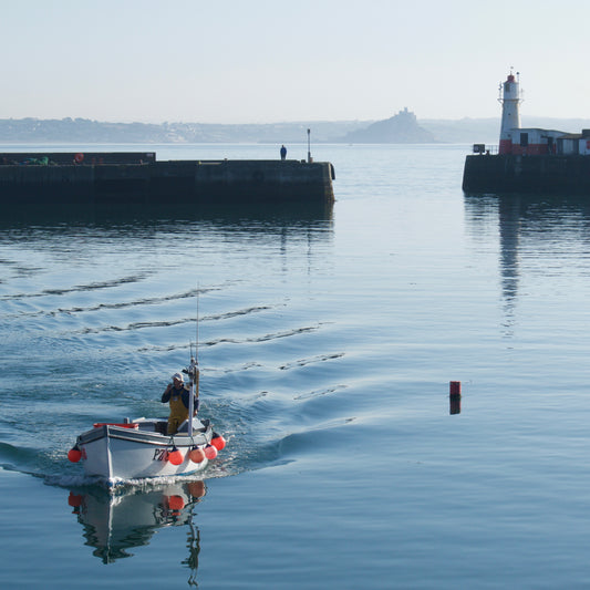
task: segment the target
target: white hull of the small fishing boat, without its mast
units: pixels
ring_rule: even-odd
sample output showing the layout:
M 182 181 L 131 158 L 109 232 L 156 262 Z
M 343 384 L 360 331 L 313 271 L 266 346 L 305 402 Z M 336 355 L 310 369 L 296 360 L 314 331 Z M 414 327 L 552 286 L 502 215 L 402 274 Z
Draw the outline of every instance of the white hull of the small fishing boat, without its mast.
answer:
M 208 463 L 189 459 L 189 451 L 210 444 L 213 431 L 205 421 L 192 436 L 186 433 L 162 435 L 154 422 L 135 421 L 131 424 L 99 425 L 81 434 L 76 445 L 82 454 L 84 472 L 106 479 L 108 484 L 145 477 L 185 475 L 203 470 Z M 176 447 L 183 462 L 174 465 L 168 455 Z

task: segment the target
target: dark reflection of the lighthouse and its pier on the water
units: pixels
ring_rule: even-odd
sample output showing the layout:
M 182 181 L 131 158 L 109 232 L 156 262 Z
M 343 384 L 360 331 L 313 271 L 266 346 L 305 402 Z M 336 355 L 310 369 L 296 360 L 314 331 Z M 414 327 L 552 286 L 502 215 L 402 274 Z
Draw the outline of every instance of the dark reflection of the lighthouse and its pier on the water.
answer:
M 477 236 L 497 228 L 505 327 L 510 332 L 519 299 L 522 241 L 542 251 L 548 244 L 587 242 L 590 252 L 590 195 L 520 193 L 464 194 L 467 231 Z

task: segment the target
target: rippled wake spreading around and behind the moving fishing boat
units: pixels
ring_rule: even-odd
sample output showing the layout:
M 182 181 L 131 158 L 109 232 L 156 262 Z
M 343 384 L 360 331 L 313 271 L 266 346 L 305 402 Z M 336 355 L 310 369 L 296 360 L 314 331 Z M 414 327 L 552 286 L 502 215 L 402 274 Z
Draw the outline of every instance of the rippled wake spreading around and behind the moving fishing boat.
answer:
M 186 359 L 189 343 L 183 339 L 186 325 L 195 322 L 193 299 L 198 290 L 147 298 L 133 292 L 84 303 L 74 300 L 81 293 L 136 289 L 144 279 L 139 272 L 65 286 L 51 293 L 12 296 L 19 303 L 27 297 L 44 302 L 13 310 L 23 330 L 21 340 L 12 342 L 13 355 L 24 354 L 30 342 L 35 342 L 44 362 L 32 364 L 30 385 L 4 410 L 2 468 L 61 487 L 101 486 L 100 477 L 81 473 L 83 462 L 72 465 L 68 460 L 76 435 L 92 429 L 93 423 L 121 423 L 167 411 L 159 404 L 162 375 L 180 355 Z M 227 288 L 217 284 L 199 292 L 219 297 Z M 45 301 L 49 297 L 53 299 Z M 346 424 L 350 416 L 342 416 L 344 406 L 333 401 L 346 396 L 349 385 L 340 382 L 338 370 L 346 355 L 339 348 L 330 350 L 331 322 L 309 317 L 284 321 L 281 314 L 289 312 L 290 302 L 282 297 L 256 303 L 240 299 L 211 308 L 199 320 L 207 327 L 200 345 L 209 364 L 204 369 L 199 417 L 210 417 L 227 445 L 199 477 L 229 477 L 299 460 L 314 448 L 318 432 Z M 51 330 L 37 328 L 39 314 Z M 112 338 L 112 332 L 120 335 Z M 13 383 L 18 375 L 8 372 L 3 379 Z M 29 411 L 32 404 L 35 412 Z M 32 432 L 43 436 L 32 437 Z M 190 476 L 179 477 L 183 482 Z M 156 479 L 168 482 L 167 476 Z M 112 483 L 117 489 L 143 488 L 146 479 L 114 474 Z

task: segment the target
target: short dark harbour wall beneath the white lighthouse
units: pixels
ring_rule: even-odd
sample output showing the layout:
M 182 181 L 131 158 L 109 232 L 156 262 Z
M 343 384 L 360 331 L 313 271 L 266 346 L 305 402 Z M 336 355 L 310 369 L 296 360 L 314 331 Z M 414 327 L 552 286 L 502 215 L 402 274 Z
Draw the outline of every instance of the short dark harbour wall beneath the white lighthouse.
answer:
M 578 155 L 469 155 L 465 193 L 590 195 L 590 157 Z

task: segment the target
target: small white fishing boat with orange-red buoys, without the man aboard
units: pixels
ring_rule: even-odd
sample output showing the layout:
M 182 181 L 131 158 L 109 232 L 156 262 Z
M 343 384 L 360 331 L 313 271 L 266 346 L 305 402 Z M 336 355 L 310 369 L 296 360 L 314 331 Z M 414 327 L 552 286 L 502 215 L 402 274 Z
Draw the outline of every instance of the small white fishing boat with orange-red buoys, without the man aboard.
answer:
M 165 417 L 95 423 L 77 436 L 68 458 L 72 463 L 82 462 L 86 475 L 104 479 L 108 486 L 205 469 L 226 442 L 213 431 L 209 420 L 201 421 L 195 415 L 199 382 L 196 354 L 183 373 L 190 377 L 189 418 L 175 434 L 167 434 L 168 421 Z

